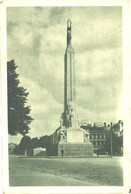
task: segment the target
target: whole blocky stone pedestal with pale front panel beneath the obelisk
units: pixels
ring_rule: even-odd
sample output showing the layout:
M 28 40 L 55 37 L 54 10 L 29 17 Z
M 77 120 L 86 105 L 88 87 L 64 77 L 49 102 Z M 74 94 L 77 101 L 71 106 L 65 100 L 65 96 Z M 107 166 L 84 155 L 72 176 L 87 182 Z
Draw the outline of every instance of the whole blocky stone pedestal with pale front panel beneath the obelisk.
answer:
M 93 145 L 89 141 L 89 133 L 81 128 L 62 128 L 55 133 L 58 140 L 57 155 L 59 157 L 89 157 L 93 156 Z

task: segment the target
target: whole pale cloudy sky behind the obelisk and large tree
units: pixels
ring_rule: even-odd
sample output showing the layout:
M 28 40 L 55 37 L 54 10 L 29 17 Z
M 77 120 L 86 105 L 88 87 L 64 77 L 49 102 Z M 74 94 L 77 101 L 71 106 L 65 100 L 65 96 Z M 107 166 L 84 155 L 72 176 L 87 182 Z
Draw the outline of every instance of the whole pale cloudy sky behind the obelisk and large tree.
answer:
M 8 61 L 29 92 L 31 137 L 59 127 L 64 101 L 66 21 L 72 21 L 79 120 L 117 122 L 122 100 L 121 7 L 7 8 Z M 9 138 L 18 140 L 19 137 Z

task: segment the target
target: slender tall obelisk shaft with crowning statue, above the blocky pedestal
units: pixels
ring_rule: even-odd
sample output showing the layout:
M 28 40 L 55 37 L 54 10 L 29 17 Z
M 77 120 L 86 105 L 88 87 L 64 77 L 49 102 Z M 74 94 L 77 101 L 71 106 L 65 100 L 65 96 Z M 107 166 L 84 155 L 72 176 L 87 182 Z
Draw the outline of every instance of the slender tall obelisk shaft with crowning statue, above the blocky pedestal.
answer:
M 64 57 L 64 127 L 78 127 L 76 115 L 75 59 L 71 45 L 71 21 L 67 21 L 67 48 Z

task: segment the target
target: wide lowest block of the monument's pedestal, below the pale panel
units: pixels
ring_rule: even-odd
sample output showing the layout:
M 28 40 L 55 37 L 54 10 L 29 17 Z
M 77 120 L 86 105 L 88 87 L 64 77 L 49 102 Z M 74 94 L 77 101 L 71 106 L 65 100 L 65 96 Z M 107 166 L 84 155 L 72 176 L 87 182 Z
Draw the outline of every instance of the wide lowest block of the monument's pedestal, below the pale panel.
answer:
M 69 143 L 59 142 L 58 144 L 58 156 L 62 157 L 89 157 L 93 156 L 93 146 L 88 143 Z

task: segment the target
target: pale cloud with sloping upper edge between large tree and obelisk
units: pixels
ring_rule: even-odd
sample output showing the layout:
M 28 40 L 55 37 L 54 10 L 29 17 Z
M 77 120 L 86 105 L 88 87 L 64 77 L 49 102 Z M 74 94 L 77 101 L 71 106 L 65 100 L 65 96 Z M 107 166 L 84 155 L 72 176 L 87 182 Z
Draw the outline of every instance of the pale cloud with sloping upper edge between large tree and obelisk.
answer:
M 52 94 L 41 88 L 37 83 L 24 77 L 20 78 L 20 82 L 23 87 L 28 88 L 28 104 L 32 105 L 30 114 L 34 121 L 30 125 L 29 135 L 40 137 L 53 133 L 59 127 L 63 105 L 56 102 Z

